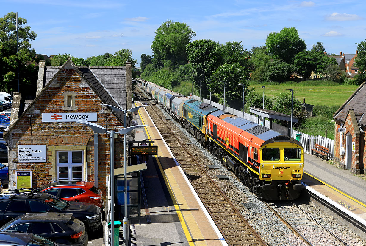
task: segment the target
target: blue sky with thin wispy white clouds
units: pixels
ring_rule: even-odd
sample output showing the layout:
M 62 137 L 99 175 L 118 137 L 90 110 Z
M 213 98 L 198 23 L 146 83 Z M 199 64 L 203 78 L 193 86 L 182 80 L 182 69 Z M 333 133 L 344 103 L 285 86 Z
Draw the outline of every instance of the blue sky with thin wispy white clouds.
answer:
M 366 38 L 366 5 L 348 1 L 116 1 L 0 0 L 0 16 L 18 12 L 37 37 L 37 54 L 78 58 L 130 49 L 138 65 L 153 55 L 155 30 L 167 19 L 197 32 L 192 41 L 242 41 L 245 49 L 265 45 L 269 33 L 296 27 L 307 49 L 323 42 L 328 53 L 355 54 Z

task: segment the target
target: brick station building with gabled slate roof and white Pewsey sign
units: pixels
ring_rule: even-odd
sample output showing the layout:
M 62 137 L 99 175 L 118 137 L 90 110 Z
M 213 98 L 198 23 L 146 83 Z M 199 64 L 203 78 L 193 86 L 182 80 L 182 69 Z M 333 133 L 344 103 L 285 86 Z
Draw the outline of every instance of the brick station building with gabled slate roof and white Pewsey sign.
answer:
M 20 93 L 14 93 L 10 129 L 4 133 L 9 149 L 9 187 L 16 188 L 16 171 L 27 170 L 32 173 L 33 187 L 55 180 L 85 180 L 94 182 L 105 195 L 109 134 L 94 133 L 76 121 L 91 121 L 107 131 L 124 127 L 123 113 L 101 104 L 132 107 L 131 63 L 86 67 L 75 66 L 70 59 L 63 66 L 45 66 L 41 61 L 36 98 L 23 112 L 20 102 Z M 29 155 L 27 151 L 32 150 L 36 153 Z M 123 154 L 123 136 L 118 135 L 115 168 L 123 165 Z M 32 159 L 34 155 L 45 160 Z

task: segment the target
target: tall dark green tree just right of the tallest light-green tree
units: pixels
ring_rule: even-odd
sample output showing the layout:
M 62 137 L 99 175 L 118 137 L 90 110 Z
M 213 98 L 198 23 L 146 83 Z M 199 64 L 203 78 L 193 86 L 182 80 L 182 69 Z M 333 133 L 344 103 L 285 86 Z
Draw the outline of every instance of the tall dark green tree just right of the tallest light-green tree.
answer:
M 208 95 L 209 78 L 223 64 L 220 44 L 208 39 L 195 40 L 187 45 L 187 56 L 195 87 L 201 85 L 201 94 Z

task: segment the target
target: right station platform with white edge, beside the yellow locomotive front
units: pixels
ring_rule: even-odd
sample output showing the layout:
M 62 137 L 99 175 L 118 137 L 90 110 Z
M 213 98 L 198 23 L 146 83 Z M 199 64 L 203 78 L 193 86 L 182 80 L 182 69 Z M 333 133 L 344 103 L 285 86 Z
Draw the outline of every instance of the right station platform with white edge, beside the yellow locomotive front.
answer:
M 366 176 L 363 177 L 315 155 L 304 154 L 302 183 L 305 189 L 358 222 L 353 229 L 366 238 Z M 347 225 L 350 220 L 343 221 L 343 224 Z

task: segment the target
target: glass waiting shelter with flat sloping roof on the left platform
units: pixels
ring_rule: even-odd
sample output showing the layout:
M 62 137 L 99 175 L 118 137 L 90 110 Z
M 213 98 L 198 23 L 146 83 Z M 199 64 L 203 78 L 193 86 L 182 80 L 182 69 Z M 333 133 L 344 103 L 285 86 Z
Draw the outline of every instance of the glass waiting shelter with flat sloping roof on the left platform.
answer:
M 141 171 L 146 170 L 146 163 L 127 166 L 127 218 L 141 218 Z M 115 204 L 116 216 L 124 218 L 124 168 L 115 169 Z

